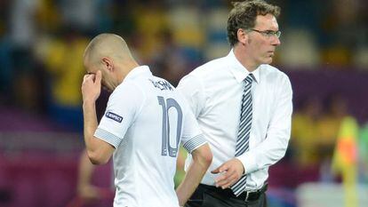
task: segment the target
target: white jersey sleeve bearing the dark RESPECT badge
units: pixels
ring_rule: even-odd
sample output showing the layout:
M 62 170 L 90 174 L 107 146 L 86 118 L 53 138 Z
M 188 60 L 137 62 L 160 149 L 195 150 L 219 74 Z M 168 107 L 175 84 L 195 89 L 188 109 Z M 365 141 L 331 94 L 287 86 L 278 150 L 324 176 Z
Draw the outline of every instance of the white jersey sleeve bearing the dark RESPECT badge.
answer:
M 144 93 L 133 83 L 123 83 L 108 99 L 108 106 L 94 133 L 96 138 L 119 147 L 143 104 Z

